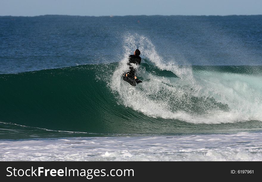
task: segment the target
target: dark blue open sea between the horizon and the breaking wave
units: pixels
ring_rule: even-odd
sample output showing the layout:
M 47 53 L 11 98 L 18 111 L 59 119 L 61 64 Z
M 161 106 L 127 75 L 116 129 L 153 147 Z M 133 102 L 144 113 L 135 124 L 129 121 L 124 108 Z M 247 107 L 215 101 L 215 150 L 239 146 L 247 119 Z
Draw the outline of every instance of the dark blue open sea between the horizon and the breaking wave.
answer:
M 119 62 L 128 33 L 148 38 L 165 61 L 261 65 L 262 15 L 4 16 L 0 73 Z

